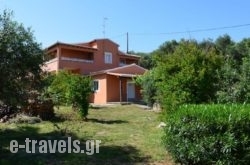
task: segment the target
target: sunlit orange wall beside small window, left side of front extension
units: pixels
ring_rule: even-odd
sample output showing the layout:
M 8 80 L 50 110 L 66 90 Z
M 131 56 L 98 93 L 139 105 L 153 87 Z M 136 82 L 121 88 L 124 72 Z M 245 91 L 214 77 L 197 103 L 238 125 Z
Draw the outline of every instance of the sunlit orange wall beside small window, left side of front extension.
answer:
M 97 75 L 92 77 L 93 80 L 99 81 L 99 90 L 92 93 L 90 102 L 95 104 L 107 103 L 107 79 L 106 75 Z

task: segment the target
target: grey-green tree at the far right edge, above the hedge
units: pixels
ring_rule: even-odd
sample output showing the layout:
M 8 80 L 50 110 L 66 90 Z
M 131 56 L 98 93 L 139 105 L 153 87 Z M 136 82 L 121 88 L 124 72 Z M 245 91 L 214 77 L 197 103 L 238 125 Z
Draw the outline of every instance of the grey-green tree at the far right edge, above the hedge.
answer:
M 231 51 L 228 51 L 228 47 Z M 224 49 L 226 50 L 222 52 L 228 51 L 228 54 L 224 56 L 225 62 L 218 72 L 220 88 L 216 94 L 217 102 L 249 103 L 250 39 L 243 39 L 234 45 L 230 44 Z

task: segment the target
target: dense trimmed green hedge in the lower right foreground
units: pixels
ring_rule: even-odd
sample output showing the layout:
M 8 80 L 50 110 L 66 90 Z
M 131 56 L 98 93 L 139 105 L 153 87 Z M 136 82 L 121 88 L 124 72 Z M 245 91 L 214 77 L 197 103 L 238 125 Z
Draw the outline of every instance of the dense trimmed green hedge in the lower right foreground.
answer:
M 164 143 L 181 164 L 249 164 L 249 105 L 182 105 L 167 117 Z

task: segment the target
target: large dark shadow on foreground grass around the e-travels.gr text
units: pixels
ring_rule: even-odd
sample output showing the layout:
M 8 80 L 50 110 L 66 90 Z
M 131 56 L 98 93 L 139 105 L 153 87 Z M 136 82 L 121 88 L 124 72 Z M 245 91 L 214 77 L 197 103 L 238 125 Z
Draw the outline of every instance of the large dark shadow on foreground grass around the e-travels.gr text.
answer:
M 150 157 L 143 156 L 140 151 L 130 145 L 115 146 L 100 144 L 99 153 L 87 155 L 85 153 L 38 153 L 39 144 L 36 145 L 35 153 L 27 153 L 26 149 L 19 149 L 17 153 L 11 153 L 9 145 L 11 140 L 17 140 L 18 144 L 25 144 L 25 139 L 37 140 L 64 140 L 67 142 L 67 137 L 73 140 L 80 140 L 81 149 L 86 151 L 85 142 L 87 139 L 80 139 L 75 134 L 69 133 L 62 135 L 60 131 L 49 133 L 40 133 L 38 128 L 32 126 L 20 126 L 18 129 L 0 130 L 0 164 L 6 165 L 56 165 L 56 164 L 147 164 Z M 96 139 L 97 140 L 97 139 Z M 31 150 L 31 145 L 30 145 Z

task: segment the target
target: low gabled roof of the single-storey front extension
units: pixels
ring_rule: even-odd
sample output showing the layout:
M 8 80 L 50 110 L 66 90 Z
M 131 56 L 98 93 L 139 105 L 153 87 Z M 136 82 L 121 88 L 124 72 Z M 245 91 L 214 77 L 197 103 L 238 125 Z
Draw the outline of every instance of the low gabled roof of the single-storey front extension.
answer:
M 121 77 L 134 77 L 136 75 L 142 75 L 147 71 L 147 69 L 136 65 L 136 64 L 130 64 L 125 65 L 113 69 L 107 69 L 107 70 L 101 70 L 98 72 L 91 72 L 90 75 L 100 75 L 100 74 L 109 74 L 109 75 L 115 75 L 115 76 L 121 76 Z

